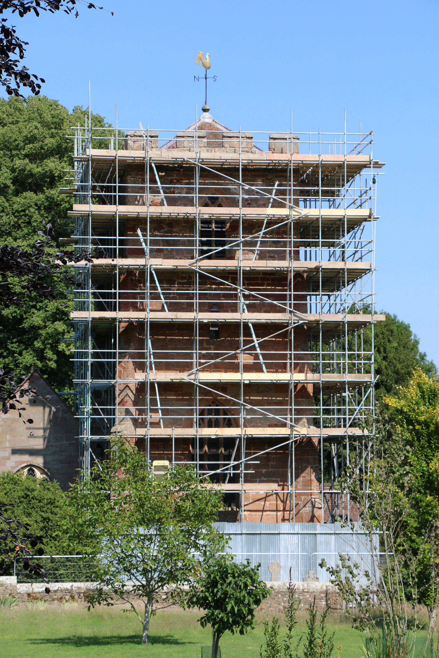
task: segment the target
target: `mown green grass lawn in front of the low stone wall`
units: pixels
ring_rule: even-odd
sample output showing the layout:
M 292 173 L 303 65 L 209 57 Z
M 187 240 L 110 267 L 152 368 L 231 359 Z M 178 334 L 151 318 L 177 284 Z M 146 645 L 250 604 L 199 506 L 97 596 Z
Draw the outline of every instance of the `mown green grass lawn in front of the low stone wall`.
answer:
M 140 622 L 120 609 L 90 613 L 67 604 L 43 609 L 12 608 L 0 613 L 0 655 L 8 658 L 200 658 L 201 644 L 209 645 L 209 630 L 202 630 L 196 611 L 161 611 L 151 620 L 149 643 L 142 645 Z M 261 621 L 261 620 L 260 620 Z M 299 632 L 305 632 L 304 620 Z M 336 632 L 336 651 L 342 658 L 360 658 L 363 635 L 346 622 L 330 624 Z M 224 635 L 222 658 L 259 658 L 263 642 L 262 621 L 244 636 Z

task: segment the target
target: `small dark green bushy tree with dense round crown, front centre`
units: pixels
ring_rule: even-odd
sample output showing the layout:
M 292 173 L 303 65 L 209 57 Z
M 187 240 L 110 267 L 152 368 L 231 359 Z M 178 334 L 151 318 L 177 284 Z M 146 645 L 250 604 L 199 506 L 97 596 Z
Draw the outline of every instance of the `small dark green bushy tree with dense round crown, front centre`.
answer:
M 233 561 L 233 555 L 211 557 L 194 578 L 190 587 L 188 607 L 205 611 L 199 619 L 202 628 L 212 628 L 212 658 L 217 658 L 221 636 L 230 631 L 244 635 L 255 628 L 255 608 L 271 594 L 259 577 L 259 567 Z

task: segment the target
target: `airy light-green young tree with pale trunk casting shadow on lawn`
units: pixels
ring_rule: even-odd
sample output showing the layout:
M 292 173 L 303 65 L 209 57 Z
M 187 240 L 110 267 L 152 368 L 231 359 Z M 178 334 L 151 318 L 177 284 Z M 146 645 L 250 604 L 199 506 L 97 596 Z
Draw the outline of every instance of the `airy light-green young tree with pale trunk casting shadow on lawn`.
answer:
M 197 561 L 224 548 L 224 536 L 212 525 L 221 493 L 192 467 L 155 478 L 144 453 L 116 438 L 109 459 L 84 474 L 70 497 L 84 513 L 78 534 L 97 544 L 100 587 L 88 599 L 89 610 L 126 603 L 142 623 L 146 643 L 157 594 L 170 586 L 170 600 L 180 600 Z M 142 600 L 143 615 L 134 597 Z

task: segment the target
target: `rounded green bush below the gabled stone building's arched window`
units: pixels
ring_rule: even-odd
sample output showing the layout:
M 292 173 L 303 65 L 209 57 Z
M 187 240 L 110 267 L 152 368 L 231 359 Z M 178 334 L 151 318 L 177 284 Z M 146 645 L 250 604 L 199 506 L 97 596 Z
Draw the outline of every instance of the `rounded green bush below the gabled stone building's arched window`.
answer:
M 78 513 L 57 482 L 11 472 L 0 473 L 0 505 L 41 538 L 45 554 L 75 555 L 85 550 L 76 531 Z M 14 551 L 0 554 L 0 573 L 13 573 Z

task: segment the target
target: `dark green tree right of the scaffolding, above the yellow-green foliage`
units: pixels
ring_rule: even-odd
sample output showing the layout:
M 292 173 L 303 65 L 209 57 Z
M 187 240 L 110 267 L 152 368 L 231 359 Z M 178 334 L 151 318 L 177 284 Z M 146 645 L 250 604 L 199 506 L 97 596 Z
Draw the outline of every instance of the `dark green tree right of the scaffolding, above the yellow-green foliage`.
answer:
M 383 311 L 384 313 L 384 311 Z M 425 352 L 419 351 L 419 338 L 410 325 L 396 315 L 386 313 L 384 322 L 374 324 L 375 376 L 379 375 L 375 392 L 378 399 L 393 393 L 398 386 L 405 386 L 415 368 L 421 368 L 430 376 L 436 374 L 436 366 L 428 361 Z M 365 330 L 365 351 L 372 347 L 371 328 Z

